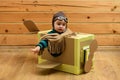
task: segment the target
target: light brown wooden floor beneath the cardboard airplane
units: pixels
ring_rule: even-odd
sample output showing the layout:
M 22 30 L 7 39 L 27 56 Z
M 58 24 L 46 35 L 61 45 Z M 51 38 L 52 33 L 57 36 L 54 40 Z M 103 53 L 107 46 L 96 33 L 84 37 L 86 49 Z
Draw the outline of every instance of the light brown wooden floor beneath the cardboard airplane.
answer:
M 120 80 L 120 47 L 99 47 L 94 69 L 73 75 L 36 68 L 37 56 L 30 48 L 0 46 L 0 80 Z

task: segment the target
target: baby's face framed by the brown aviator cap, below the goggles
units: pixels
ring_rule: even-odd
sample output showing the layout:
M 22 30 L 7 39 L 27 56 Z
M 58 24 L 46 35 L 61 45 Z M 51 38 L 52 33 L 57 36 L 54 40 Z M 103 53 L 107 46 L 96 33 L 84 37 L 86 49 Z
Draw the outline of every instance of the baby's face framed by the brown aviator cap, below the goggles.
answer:
M 67 23 L 64 20 L 56 20 L 54 22 L 54 29 L 57 32 L 64 32 L 66 30 Z

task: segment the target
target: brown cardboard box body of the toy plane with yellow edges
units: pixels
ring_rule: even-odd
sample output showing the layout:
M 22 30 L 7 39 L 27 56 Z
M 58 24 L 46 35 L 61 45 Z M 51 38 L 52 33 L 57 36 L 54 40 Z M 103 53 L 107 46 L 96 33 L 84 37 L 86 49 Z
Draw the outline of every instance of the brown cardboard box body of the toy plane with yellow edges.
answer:
M 42 34 L 47 33 L 48 31 L 38 32 L 38 38 L 40 39 Z M 66 36 L 65 51 L 60 56 L 53 57 L 48 50 L 45 49 L 44 53 L 41 56 L 38 56 L 38 64 L 44 65 L 42 63 L 45 61 L 60 63 L 53 68 L 73 74 L 81 74 L 84 72 L 84 65 L 88 60 L 90 43 L 92 40 L 94 40 L 93 34 L 76 33 L 75 35 Z

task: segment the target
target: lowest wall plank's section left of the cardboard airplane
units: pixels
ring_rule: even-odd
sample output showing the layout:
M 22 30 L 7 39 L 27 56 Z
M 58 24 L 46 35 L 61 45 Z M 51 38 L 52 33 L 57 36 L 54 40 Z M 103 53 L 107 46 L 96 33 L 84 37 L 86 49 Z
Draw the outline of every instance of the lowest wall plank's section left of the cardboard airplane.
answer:
M 1 45 L 36 45 L 38 38 L 36 34 L 3 34 L 0 35 Z

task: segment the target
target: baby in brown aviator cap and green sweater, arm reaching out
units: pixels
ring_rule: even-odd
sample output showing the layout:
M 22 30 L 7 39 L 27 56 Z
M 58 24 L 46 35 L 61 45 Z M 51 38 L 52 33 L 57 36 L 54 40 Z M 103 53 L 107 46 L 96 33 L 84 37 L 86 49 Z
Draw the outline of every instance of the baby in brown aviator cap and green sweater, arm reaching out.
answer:
M 58 34 L 62 34 L 62 33 L 65 33 L 68 31 L 67 29 L 67 23 L 68 23 L 68 19 L 67 17 L 65 16 L 65 14 L 63 12 L 57 12 L 56 14 L 53 15 L 53 18 L 52 18 L 52 27 L 53 29 L 48 32 L 48 34 L 54 34 L 54 33 L 58 33 Z M 69 30 L 70 32 L 70 30 Z M 48 40 L 47 39 L 44 39 L 44 40 L 41 40 L 37 46 L 32 49 L 32 51 L 34 53 L 39 53 L 40 50 L 44 49 L 48 47 Z M 53 55 L 53 56 L 56 56 L 56 55 Z M 58 56 L 58 55 L 57 55 Z

